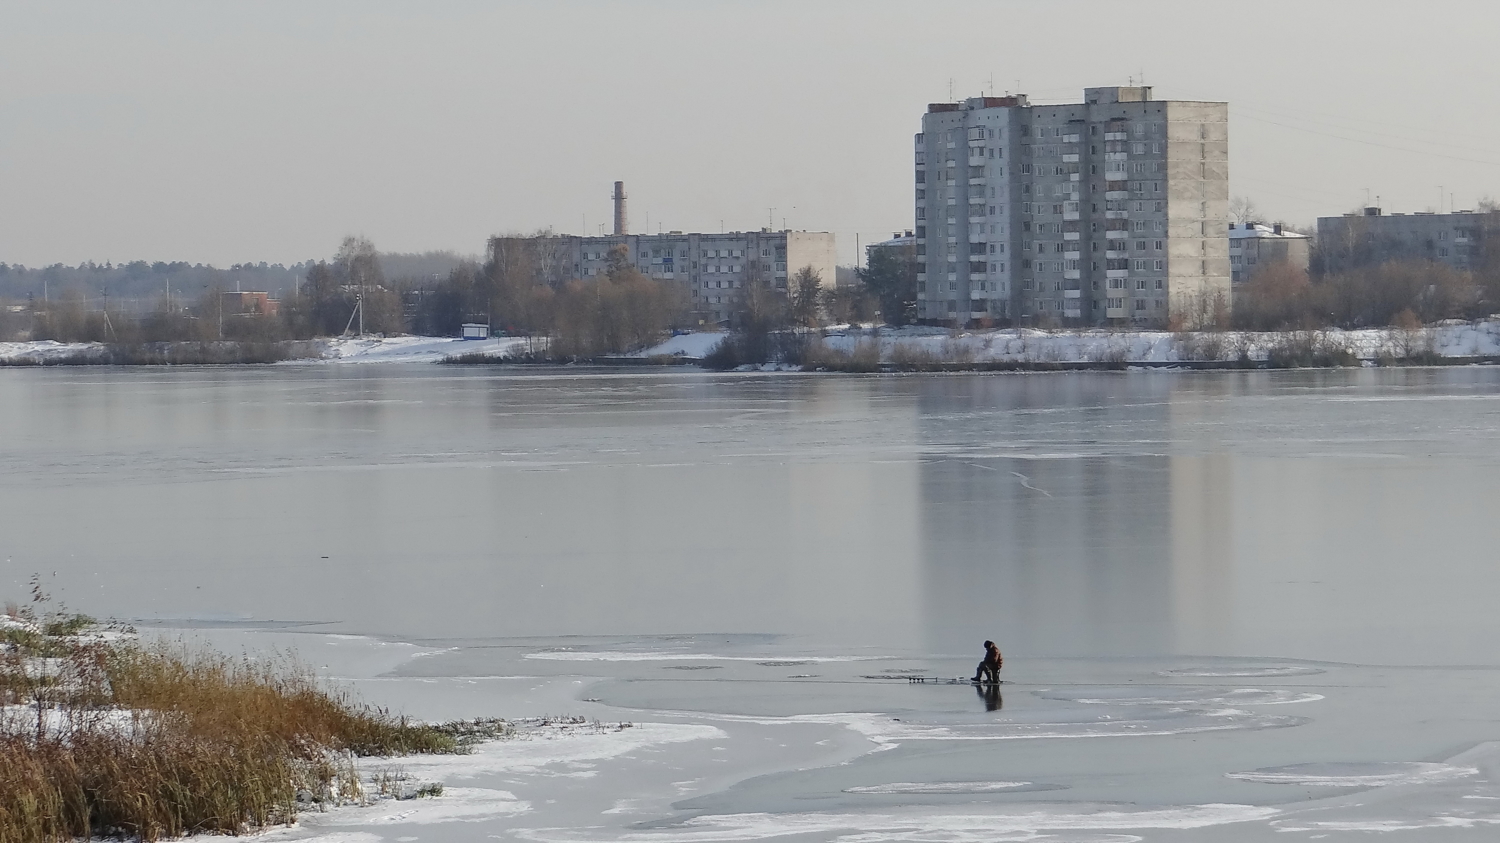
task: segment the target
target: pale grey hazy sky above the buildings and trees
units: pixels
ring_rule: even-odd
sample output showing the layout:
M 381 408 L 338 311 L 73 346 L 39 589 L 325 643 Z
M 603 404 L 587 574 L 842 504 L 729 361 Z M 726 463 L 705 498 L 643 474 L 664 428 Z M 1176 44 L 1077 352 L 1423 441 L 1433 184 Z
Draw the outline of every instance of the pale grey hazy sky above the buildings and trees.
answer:
M 849 262 L 912 225 L 950 80 L 1228 100 L 1274 218 L 1467 208 L 1500 195 L 1497 32 L 1479 0 L 0 0 L 0 261 L 478 252 L 597 231 L 622 178 L 636 231 L 784 219 Z

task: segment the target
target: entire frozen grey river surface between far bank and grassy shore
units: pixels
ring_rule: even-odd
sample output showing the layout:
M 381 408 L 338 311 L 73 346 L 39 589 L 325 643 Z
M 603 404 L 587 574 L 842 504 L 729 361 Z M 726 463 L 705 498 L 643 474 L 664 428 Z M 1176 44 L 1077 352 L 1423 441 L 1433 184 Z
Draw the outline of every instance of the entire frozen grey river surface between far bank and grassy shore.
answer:
M 1494 840 L 1497 468 L 1486 368 L 0 370 L 0 596 L 633 724 L 276 840 Z

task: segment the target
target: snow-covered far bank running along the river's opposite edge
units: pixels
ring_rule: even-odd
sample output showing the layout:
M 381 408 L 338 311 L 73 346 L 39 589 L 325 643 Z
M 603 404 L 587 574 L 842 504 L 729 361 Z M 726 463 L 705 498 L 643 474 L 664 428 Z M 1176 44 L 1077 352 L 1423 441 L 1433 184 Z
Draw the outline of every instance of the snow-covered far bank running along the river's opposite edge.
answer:
M 782 362 L 714 366 L 734 334 L 698 332 L 630 354 L 550 358 L 544 338 L 462 340 L 430 336 L 324 338 L 278 342 L 0 344 L 0 368 L 255 366 L 441 363 L 452 366 L 594 366 L 712 372 L 1077 372 L 1131 369 L 1340 369 L 1490 366 L 1500 363 L 1500 320 L 1424 328 L 1308 332 L 1155 332 L 993 328 L 954 332 L 840 327 L 796 332 Z M 724 363 L 720 363 L 722 366 Z

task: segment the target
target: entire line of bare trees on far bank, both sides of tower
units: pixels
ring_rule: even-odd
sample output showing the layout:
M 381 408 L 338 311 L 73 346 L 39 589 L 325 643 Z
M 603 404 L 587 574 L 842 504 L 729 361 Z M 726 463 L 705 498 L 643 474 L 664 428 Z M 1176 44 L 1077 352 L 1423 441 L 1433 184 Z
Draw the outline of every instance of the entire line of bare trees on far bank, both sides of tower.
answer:
M 1490 214 L 1486 214 L 1490 216 Z M 1233 308 L 1206 309 L 1204 328 L 1308 330 L 1378 327 L 1473 320 L 1500 312 L 1500 225 L 1486 237 L 1472 270 L 1456 270 L 1422 255 L 1370 261 L 1342 272 L 1312 272 L 1292 264 L 1262 264 L 1234 290 Z M 492 237 L 483 260 L 452 254 L 381 254 L 350 237 L 328 261 L 291 267 L 237 264 L 214 270 L 184 262 L 84 264 L 33 270 L 0 264 L 0 340 L 144 344 L 216 339 L 276 342 L 366 333 L 456 336 L 465 322 L 496 333 L 550 338 L 558 357 L 592 357 L 648 346 L 672 330 L 714 330 L 693 308 L 682 282 L 639 272 L 624 248 L 608 270 L 576 278 L 566 240 L 548 232 Z M 405 264 L 399 260 L 405 258 Z M 390 267 L 400 276 L 393 278 Z M 441 272 L 428 272 L 438 268 Z M 412 272 L 416 270 L 416 272 Z M 226 297 L 231 282 L 288 280 L 273 312 L 246 309 Z M 124 296 L 88 294 L 90 276 L 162 286 L 147 308 Z M 80 279 L 84 282 L 80 282 Z M 141 280 L 144 279 L 144 280 Z M 62 292 L 16 297 L 15 290 L 52 280 Z M 272 286 L 264 284 L 260 286 Z M 171 292 L 168 292 L 171 290 Z M 10 294 L 6 296 L 4 292 Z M 108 291 L 108 288 L 105 288 Z M 788 328 L 880 320 L 915 321 L 916 258 L 912 249 L 874 249 L 852 284 L 826 285 L 810 270 L 794 272 L 782 286 L 750 278 L 729 328 L 747 358 Z

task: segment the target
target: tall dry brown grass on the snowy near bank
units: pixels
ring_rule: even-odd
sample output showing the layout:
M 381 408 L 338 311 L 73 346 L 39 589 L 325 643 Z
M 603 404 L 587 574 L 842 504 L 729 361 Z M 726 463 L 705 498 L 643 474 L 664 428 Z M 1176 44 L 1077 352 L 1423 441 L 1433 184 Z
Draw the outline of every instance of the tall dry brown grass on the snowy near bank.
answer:
M 0 843 L 240 834 L 363 796 L 356 756 L 465 752 L 501 722 L 429 726 L 234 658 L 9 608 L 0 628 Z

